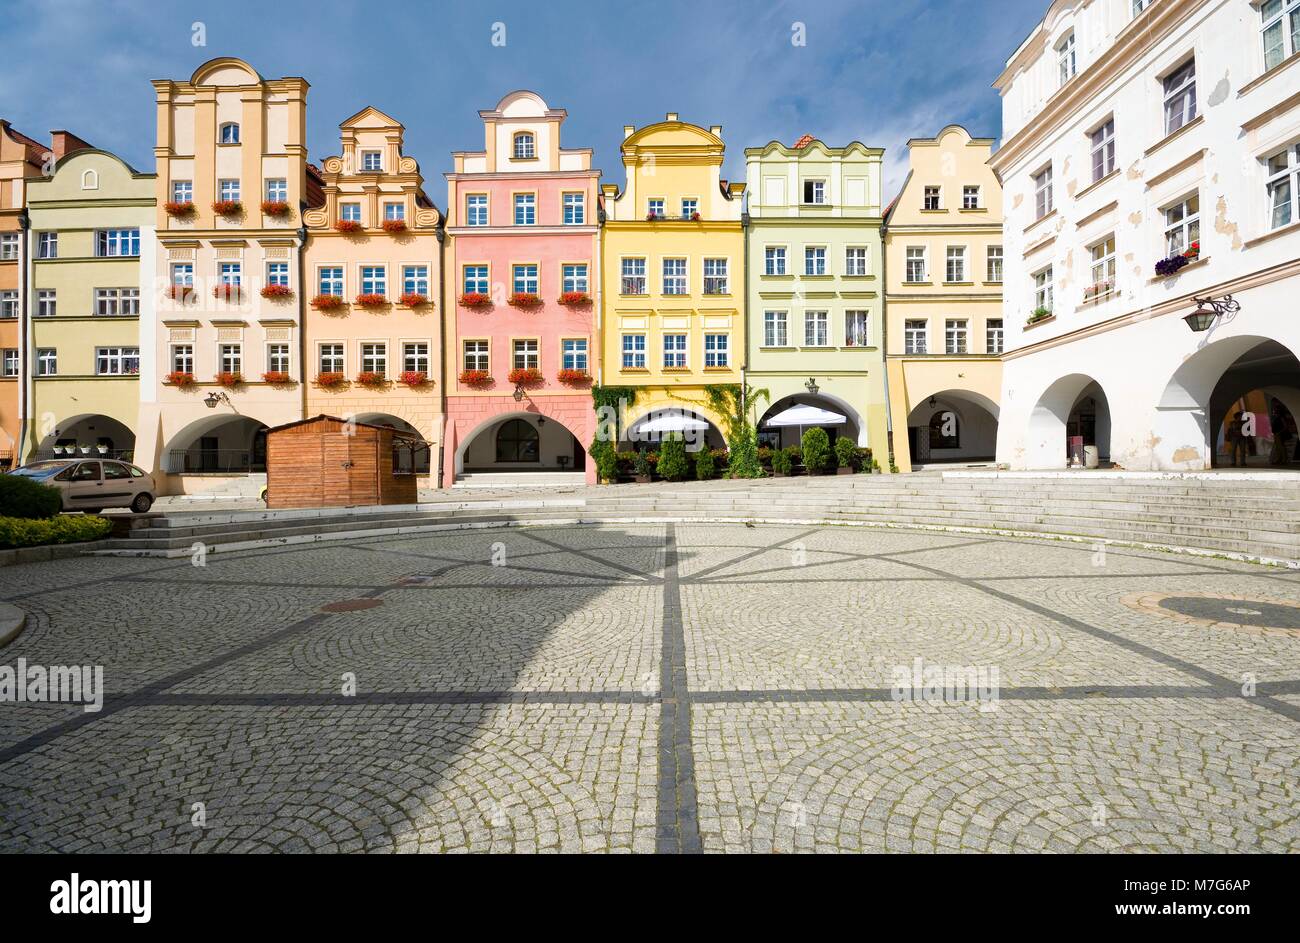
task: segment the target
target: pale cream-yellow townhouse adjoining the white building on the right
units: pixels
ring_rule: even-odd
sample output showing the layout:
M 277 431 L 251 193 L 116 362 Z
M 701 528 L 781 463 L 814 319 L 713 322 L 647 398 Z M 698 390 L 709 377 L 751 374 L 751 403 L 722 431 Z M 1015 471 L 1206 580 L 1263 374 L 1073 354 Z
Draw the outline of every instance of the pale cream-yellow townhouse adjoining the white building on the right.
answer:
M 992 460 L 1002 380 L 1002 187 L 992 139 L 949 125 L 907 142 L 885 213 L 885 365 L 893 457 Z

